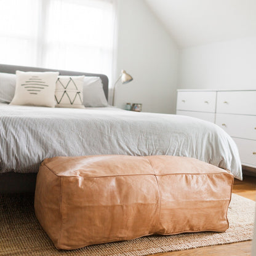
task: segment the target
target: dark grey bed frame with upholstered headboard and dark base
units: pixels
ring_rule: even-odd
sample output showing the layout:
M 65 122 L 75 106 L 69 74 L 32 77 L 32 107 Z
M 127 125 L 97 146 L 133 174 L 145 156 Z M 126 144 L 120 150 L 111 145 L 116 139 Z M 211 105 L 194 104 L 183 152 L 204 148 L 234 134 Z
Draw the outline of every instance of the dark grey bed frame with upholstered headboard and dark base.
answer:
M 16 70 L 20 71 L 58 71 L 60 75 L 63 76 L 98 76 L 102 79 L 103 90 L 108 99 L 108 77 L 105 74 L 94 74 L 94 73 L 83 73 L 68 70 L 52 70 L 49 68 L 36 68 L 31 66 L 14 66 L 14 65 L 4 65 L 0 64 L 1 73 L 15 74 Z M 34 173 L 30 174 L 20 174 L 18 172 L 7 172 L 0 174 L 0 193 L 26 193 L 34 192 L 36 186 L 36 175 Z

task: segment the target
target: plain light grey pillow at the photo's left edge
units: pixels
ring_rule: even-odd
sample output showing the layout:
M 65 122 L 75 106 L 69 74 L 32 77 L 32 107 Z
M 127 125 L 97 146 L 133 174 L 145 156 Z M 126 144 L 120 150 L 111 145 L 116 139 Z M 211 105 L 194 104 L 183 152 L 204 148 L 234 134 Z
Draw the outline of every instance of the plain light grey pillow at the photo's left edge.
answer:
M 10 103 L 14 98 L 16 75 L 0 73 L 0 103 Z

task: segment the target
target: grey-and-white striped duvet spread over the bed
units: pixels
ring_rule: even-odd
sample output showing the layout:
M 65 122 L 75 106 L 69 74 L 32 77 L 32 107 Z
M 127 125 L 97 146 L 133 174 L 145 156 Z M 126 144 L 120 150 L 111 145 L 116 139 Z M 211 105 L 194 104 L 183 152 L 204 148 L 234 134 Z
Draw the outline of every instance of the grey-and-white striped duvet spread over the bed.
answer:
M 197 158 L 242 179 L 232 138 L 188 116 L 0 104 L 0 136 L 0 172 L 38 172 L 54 156 L 167 154 Z

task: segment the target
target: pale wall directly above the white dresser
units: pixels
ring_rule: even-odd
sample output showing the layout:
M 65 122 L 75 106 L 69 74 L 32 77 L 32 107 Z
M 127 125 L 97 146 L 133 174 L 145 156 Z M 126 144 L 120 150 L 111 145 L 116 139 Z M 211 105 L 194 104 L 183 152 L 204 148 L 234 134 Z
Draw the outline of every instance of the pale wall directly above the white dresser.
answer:
M 256 89 L 256 37 L 181 50 L 178 89 Z

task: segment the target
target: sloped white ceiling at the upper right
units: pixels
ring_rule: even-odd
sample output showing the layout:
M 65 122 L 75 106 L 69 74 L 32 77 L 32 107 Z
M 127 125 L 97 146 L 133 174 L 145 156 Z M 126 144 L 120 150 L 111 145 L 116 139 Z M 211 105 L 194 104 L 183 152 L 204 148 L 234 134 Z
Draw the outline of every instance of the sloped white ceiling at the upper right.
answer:
M 256 0 L 145 0 L 181 48 L 256 36 Z

